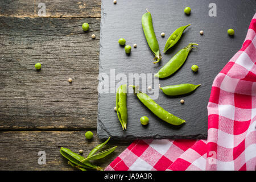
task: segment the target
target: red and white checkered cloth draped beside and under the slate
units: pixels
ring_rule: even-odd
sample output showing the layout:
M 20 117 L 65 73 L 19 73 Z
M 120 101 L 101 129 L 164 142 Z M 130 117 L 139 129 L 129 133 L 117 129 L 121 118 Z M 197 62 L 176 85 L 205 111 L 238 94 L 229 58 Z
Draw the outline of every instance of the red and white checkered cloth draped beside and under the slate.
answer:
M 213 81 L 207 140 L 135 140 L 105 170 L 256 170 L 256 14 Z

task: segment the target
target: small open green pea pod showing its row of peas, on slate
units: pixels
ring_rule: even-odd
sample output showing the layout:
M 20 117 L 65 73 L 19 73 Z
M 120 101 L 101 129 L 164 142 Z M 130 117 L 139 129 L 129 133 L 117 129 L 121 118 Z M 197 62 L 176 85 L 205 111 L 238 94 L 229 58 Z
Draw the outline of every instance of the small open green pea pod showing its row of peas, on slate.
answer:
M 191 26 L 191 24 L 188 24 L 183 27 L 177 28 L 168 38 L 166 42 L 166 46 L 164 46 L 164 52 L 166 52 L 168 49 L 170 49 L 172 46 L 174 46 L 181 38 L 181 35 L 183 31 L 188 27 Z

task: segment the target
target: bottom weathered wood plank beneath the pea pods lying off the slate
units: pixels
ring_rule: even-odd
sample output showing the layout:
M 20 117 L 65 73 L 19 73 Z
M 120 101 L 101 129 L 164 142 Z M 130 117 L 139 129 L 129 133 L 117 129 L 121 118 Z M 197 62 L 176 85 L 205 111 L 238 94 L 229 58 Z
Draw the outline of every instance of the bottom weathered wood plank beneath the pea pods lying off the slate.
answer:
M 96 132 L 91 141 L 85 139 L 86 131 L 6 131 L 0 133 L 0 170 L 73 170 L 68 160 L 61 156 L 60 147 L 67 147 L 73 152 L 84 150 L 83 156 L 104 142 L 98 140 Z M 97 165 L 106 167 L 131 141 L 117 143 L 110 139 L 105 148 L 118 146 L 116 150 Z M 38 152 L 46 152 L 46 164 L 38 164 Z

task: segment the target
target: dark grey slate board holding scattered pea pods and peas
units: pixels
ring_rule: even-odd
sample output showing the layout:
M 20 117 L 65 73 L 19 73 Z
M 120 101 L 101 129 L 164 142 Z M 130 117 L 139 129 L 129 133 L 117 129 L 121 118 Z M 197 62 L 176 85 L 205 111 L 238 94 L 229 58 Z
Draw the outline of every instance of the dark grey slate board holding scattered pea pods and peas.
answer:
M 122 131 L 115 107 L 115 93 L 99 93 L 98 95 L 98 128 L 100 138 L 138 139 L 138 138 L 187 138 L 199 139 L 207 137 L 207 105 L 214 77 L 242 46 L 247 28 L 255 13 L 255 1 L 214 1 L 217 5 L 217 16 L 208 15 L 209 3 L 212 1 L 121 1 L 114 5 L 113 1 L 103 1 L 101 5 L 101 38 L 100 38 L 100 76 L 99 86 L 109 82 L 109 91 L 117 88 L 110 87 L 110 69 L 114 75 L 123 73 L 156 73 L 172 56 L 188 43 L 197 43 L 197 49 L 188 56 L 187 61 L 179 71 L 164 80 L 159 80 L 162 86 L 181 83 L 201 84 L 194 93 L 181 97 L 167 97 L 159 91 L 156 103 L 172 114 L 185 119 L 181 126 L 172 126 L 161 121 L 151 113 L 135 96 L 127 96 L 129 121 L 127 130 Z M 191 15 L 184 14 L 184 8 L 191 7 Z M 181 40 L 168 53 L 163 55 L 160 64 L 153 64 L 153 55 L 144 38 L 141 16 L 151 12 L 156 38 L 160 51 L 163 52 L 166 40 L 176 28 L 191 23 L 185 30 Z M 235 30 L 235 35 L 227 34 L 228 28 Z M 199 34 L 200 30 L 204 35 Z M 161 32 L 166 36 L 162 38 Z M 126 44 L 132 48 L 131 54 L 126 55 L 118 39 L 126 39 Z M 193 73 L 191 65 L 199 65 L 199 72 Z M 109 78 L 102 77 L 102 74 Z M 119 80 L 115 80 L 115 85 Z M 127 82 L 128 84 L 128 82 Z M 158 88 L 156 86 L 156 91 Z M 180 100 L 185 104 L 181 105 Z M 150 119 L 148 126 L 142 126 L 139 119 L 147 115 Z

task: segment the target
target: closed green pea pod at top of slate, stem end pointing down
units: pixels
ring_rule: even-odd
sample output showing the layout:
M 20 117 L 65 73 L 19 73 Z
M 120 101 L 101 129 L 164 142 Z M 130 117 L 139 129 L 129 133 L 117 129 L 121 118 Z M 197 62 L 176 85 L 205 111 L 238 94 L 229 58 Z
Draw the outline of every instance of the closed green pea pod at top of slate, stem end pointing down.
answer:
M 147 10 L 147 13 L 142 15 L 141 23 L 142 23 L 144 35 L 147 39 L 147 44 L 155 56 L 154 60 L 157 60 L 157 61 L 154 61 L 153 63 L 154 64 L 158 63 L 162 59 L 162 55 L 160 54 L 158 40 L 156 39 L 156 36 L 155 36 L 152 17 L 148 10 Z

